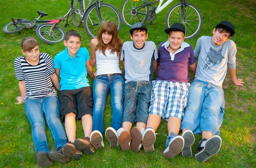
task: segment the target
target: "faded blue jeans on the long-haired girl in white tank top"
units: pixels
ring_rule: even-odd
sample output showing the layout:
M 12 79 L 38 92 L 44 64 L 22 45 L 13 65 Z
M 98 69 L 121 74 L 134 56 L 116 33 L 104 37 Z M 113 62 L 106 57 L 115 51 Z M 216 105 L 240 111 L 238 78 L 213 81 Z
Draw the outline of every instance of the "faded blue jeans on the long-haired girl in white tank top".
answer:
M 122 127 L 123 97 L 125 81 L 121 75 L 98 76 L 93 81 L 93 131 L 104 134 L 104 109 L 109 90 L 113 109 L 111 127 L 118 130 Z

